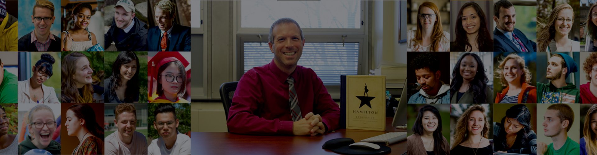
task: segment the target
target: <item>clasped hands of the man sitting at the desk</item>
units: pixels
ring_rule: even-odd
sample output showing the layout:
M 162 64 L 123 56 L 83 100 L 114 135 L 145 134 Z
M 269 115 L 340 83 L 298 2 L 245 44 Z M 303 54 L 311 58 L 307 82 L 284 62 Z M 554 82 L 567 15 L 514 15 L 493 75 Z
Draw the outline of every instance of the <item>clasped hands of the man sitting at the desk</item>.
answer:
M 323 135 L 325 133 L 324 123 L 321 122 L 319 114 L 307 113 L 303 119 L 293 122 L 294 135 Z

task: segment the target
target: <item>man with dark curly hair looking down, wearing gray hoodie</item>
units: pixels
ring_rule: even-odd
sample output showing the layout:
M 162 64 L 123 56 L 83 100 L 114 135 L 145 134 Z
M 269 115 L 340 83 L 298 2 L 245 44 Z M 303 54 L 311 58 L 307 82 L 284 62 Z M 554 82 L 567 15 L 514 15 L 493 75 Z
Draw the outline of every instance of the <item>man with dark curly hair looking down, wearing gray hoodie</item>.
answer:
M 411 63 L 417 82 L 421 89 L 413 94 L 408 103 L 444 103 L 450 104 L 450 85 L 439 80 L 442 72 L 439 70 L 437 54 L 425 52 L 417 55 Z

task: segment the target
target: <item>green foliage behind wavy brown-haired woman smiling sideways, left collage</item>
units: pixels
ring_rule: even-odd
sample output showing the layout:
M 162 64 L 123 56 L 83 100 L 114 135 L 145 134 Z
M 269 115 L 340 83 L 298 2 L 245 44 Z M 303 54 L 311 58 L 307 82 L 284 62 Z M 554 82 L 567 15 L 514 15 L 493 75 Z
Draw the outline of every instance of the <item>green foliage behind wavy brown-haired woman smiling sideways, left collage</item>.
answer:
M 73 51 L 64 51 L 62 52 L 62 60 L 66 55 L 72 53 Z M 104 86 L 104 78 L 106 77 L 106 72 L 104 72 L 104 52 L 81 52 L 85 54 L 87 58 L 89 58 L 89 63 L 91 65 L 91 69 L 93 69 L 93 84 L 99 85 L 101 87 Z M 64 66 L 62 66 L 64 67 Z M 65 78 L 65 77 L 62 77 Z

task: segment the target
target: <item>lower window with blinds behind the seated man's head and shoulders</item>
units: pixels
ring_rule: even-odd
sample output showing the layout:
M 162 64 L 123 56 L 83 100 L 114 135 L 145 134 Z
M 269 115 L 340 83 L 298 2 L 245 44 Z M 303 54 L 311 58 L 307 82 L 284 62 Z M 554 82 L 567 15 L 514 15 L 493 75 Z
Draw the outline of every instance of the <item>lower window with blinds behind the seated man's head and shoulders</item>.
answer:
M 245 73 L 270 63 L 274 57 L 267 42 L 244 42 Z M 298 65 L 313 69 L 324 85 L 340 85 L 340 75 L 357 75 L 358 42 L 306 42 Z

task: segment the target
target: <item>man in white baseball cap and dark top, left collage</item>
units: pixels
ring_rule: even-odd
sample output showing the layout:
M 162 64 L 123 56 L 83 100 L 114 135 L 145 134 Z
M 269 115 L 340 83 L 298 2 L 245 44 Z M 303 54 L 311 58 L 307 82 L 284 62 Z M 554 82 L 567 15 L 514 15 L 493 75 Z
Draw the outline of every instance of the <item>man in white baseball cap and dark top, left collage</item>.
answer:
M 120 0 L 114 7 L 112 26 L 104 36 L 104 47 L 112 42 L 118 51 L 147 51 L 147 24 L 135 17 L 131 0 Z

